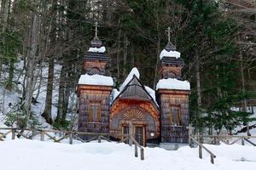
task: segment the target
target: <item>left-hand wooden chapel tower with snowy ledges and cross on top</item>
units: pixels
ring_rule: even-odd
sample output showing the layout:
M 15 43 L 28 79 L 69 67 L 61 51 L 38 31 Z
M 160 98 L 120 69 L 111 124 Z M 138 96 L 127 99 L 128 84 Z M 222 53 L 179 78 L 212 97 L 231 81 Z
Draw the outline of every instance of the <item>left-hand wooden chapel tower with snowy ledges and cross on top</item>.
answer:
M 84 57 L 84 75 L 79 78 L 79 132 L 109 133 L 109 99 L 113 90 L 113 78 L 105 76 L 108 56 L 102 41 L 96 35 Z M 93 136 L 83 136 L 90 139 Z

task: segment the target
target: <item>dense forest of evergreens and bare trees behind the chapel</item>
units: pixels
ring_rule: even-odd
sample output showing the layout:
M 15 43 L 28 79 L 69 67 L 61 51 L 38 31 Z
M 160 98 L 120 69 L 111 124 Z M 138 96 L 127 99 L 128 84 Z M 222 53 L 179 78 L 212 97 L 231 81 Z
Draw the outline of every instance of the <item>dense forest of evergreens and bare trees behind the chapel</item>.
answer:
M 76 113 L 76 86 L 96 22 L 116 87 L 136 66 L 144 85 L 155 88 L 170 26 L 171 41 L 185 61 L 183 79 L 191 85 L 193 126 L 211 133 L 251 121 L 255 0 L 0 0 L 0 16 L 0 87 L 19 98 L 0 113 L 20 127 L 32 126 L 31 108 L 43 91 L 45 121 L 56 128 L 73 124 L 68 115 Z

